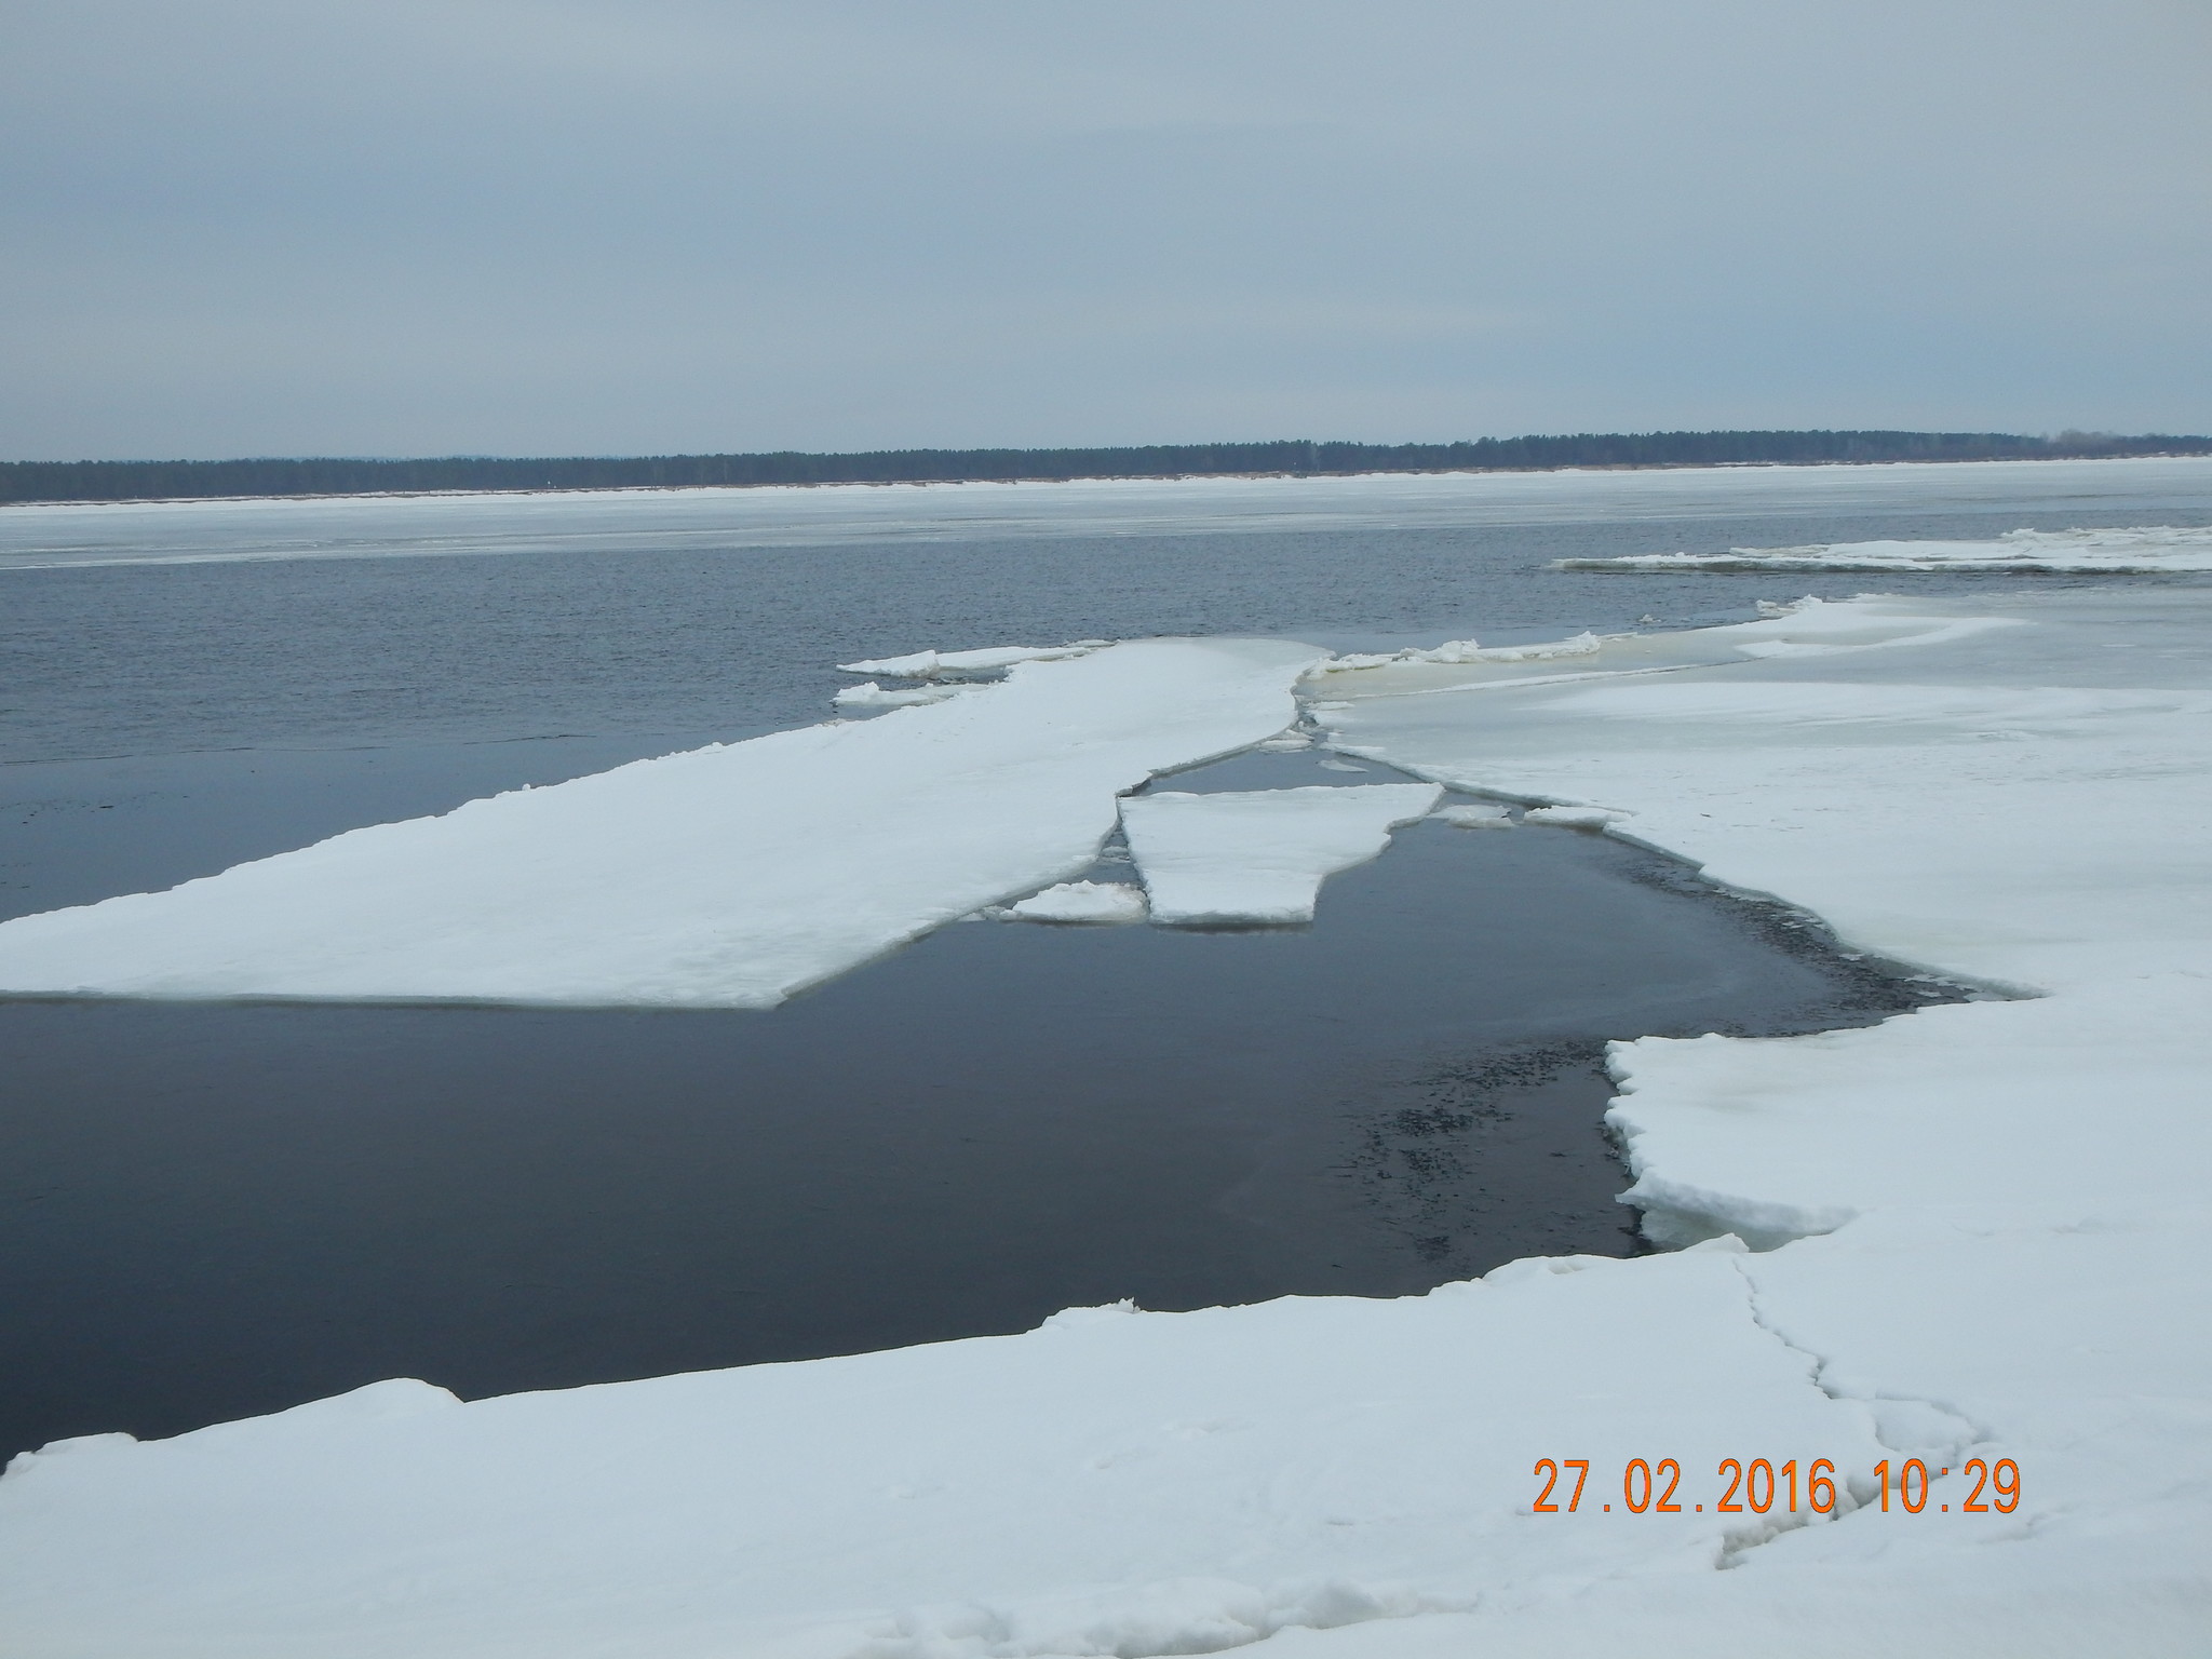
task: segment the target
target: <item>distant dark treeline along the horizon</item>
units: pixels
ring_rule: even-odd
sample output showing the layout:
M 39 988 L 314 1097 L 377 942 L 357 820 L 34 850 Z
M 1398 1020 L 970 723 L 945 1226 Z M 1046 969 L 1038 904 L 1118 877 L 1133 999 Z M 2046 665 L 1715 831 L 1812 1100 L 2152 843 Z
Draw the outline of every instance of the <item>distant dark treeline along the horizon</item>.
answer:
M 13 460 L 0 502 L 192 495 L 367 495 L 440 489 L 692 489 L 701 484 L 918 484 L 1015 478 L 1431 473 L 1546 467 L 2203 456 L 2212 438 L 2066 431 L 1646 431 L 1449 445 L 1259 442 L 1126 449 L 876 449 L 856 456 L 447 456 L 442 460 Z

